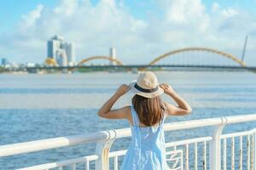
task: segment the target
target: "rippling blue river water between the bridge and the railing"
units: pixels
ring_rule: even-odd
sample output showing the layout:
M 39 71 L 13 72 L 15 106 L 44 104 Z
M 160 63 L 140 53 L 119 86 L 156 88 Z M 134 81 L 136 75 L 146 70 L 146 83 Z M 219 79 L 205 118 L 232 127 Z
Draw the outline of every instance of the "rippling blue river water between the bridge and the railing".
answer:
M 220 71 L 157 71 L 159 82 L 168 82 L 193 108 L 189 116 L 172 116 L 180 122 L 218 116 L 256 113 L 256 74 Z M 96 111 L 122 83 L 137 78 L 130 72 L 84 74 L 1 74 L 0 144 L 48 139 L 79 133 L 129 127 L 123 120 L 106 120 Z M 114 105 L 131 105 L 129 92 Z M 165 94 L 162 99 L 174 104 Z M 224 133 L 256 127 L 255 122 L 229 125 Z M 207 135 L 208 128 L 166 133 L 166 141 Z M 126 149 L 131 139 L 118 139 L 112 150 Z M 38 163 L 92 154 L 95 144 L 0 158 L 0 169 L 15 169 Z M 191 153 L 193 154 L 193 153 Z M 121 160 L 120 160 L 121 161 Z M 193 160 L 191 160 L 193 161 Z M 199 161 L 200 162 L 200 161 Z M 228 161 L 229 163 L 229 161 Z M 236 165 L 237 166 L 237 165 Z

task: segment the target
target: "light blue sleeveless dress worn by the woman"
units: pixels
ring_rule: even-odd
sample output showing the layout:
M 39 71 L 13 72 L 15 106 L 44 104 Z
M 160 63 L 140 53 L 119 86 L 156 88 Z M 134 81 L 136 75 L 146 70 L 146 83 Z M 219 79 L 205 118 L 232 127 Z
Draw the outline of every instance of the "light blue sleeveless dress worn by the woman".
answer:
M 166 164 L 164 114 L 159 125 L 139 127 L 140 121 L 131 105 L 133 126 L 131 127 L 131 144 L 125 154 L 121 170 L 168 170 Z

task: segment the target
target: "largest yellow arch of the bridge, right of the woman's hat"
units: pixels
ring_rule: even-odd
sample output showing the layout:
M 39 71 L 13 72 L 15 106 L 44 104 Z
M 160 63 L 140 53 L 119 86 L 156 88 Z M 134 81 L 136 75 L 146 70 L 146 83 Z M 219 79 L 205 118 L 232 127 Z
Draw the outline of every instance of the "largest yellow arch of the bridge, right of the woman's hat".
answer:
M 238 59 L 235 55 L 228 54 L 228 53 L 219 51 L 218 49 L 214 49 L 214 48 L 180 48 L 180 49 L 171 51 L 169 53 L 160 55 L 159 57 L 153 59 L 149 63 L 149 65 L 154 65 L 160 59 L 164 59 L 164 58 L 166 58 L 166 57 L 168 57 L 170 55 L 179 54 L 179 53 L 188 52 L 188 51 L 205 51 L 205 52 L 209 52 L 209 53 L 213 53 L 213 54 L 219 54 L 219 55 L 224 56 L 224 57 L 226 57 L 228 59 L 232 59 L 234 62 L 238 63 L 241 66 L 246 66 L 246 63 L 243 62 L 241 59 Z

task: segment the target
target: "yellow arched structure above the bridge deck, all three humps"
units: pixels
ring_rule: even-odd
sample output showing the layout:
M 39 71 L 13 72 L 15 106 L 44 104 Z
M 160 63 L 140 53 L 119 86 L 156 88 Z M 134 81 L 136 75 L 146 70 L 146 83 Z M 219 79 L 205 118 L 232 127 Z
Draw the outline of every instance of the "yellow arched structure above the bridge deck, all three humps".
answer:
M 158 63 L 161 59 L 165 59 L 166 57 L 171 57 L 174 54 L 181 54 L 181 53 L 186 53 L 186 52 L 191 52 L 191 51 L 198 51 L 198 52 L 207 52 L 207 53 L 212 53 L 212 54 L 218 54 L 220 56 L 223 56 L 228 59 L 232 59 L 234 62 L 237 64 L 241 65 L 242 67 L 246 66 L 246 63 L 242 61 L 241 59 L 238 59 L 235 55 L 233 54 L 228 54 L 223 51 L 219 51 L 218 49 L 214 48 L 180 48 L 173 50 L 171 52 L 168 52 L 166 54 L 161 54 L 160 56 L 156 57 L 153 59 L 151 62 L 149 62 L 148 65 L 155 65 Z M 84 63 L 89 62 L 90 60 L 95 60 L 95 59 L 107 59 L 109 61 L 113 61 L 116 65 L 124 65 L 123 62 L 121 62 L 119 59 L 114 59 L 109 56 L 91 56 L 89 58 L 83 59 L 79 62 L 78 66 L 82 66 Z M 47 65 L 53 65 L 56 66 L 55 59 L 45 59 L 45 63 Z

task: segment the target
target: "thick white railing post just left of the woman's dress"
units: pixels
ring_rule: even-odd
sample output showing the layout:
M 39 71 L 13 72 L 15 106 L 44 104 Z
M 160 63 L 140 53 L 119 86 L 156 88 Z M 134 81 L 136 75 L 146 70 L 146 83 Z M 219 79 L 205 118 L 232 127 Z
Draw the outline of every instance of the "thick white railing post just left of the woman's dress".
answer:
M 108 170 L 109 169 L 109 150 L 113 141 L 115 139 L 114 130 L 106 131 L 108 134 L 108 139 L 99 140 L 96 143 L 96 155 L 99 156 L 99 159 L 96 160 L 96 170 Z

